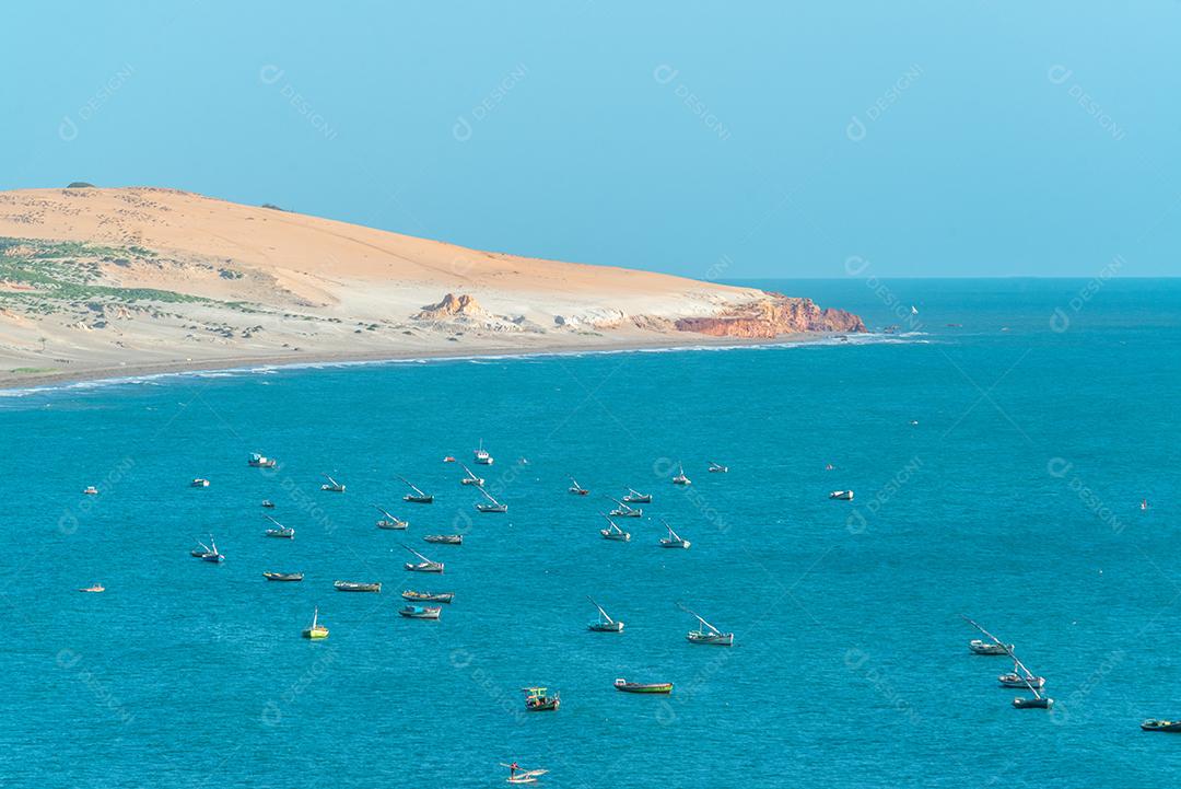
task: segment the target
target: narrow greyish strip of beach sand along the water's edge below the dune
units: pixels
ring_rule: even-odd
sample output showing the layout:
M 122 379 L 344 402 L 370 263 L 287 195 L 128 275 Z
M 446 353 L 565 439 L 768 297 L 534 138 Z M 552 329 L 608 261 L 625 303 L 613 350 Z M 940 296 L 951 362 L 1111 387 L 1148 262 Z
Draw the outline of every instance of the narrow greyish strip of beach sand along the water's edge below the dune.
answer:
M 246 356 L 210 358 L 191 361 L 132 363 L 117 366 L 96 366 L 85 370 L 60 370 L 53 372 L 15 373 L 0 371 L 0 392 L 20 390 L 51 390 L 72 384 L 154 376 L 183 376 L 226 370 L 249 370 L 256 367 L 301 367 L 308 365 L 381 364 L 397 361 L 430 361 L 446 359 L 478 359 L 497 357 L 578 356 L 583 353 L 625 353 L 642 351 L 693 351 L 739 350 L 765 346 L 810 345 L 847 337 L 837 332 L 784 334 L 777 338 L 746 339 L 737 337 L 696 335 L 692 340 L 680 338 L 668 341 L 616 340 L 612 343 L 588 343 L 586 345 L 539 345 L 539 346 L 481 346 L 470 348 L 435 348 L 416 351 L 376 351 L 365 353 L 324 352 L 306 353 L 299 358 L 289 356 Z

